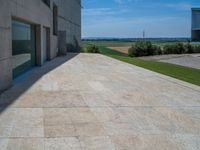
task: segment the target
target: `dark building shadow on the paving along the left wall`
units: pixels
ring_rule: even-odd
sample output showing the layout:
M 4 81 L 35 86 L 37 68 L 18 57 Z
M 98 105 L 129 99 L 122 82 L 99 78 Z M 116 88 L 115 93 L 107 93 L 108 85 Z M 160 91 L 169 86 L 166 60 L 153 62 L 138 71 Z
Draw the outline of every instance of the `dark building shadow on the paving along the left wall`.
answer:
M 0 114 L 12 105 L 23 93 L 29 90 L 39 79 L 76 57 L 78 53 L 68 53 L 46 62 L 42 67 L 34 67 L 17 77 L 8 90 L 0 93 Z

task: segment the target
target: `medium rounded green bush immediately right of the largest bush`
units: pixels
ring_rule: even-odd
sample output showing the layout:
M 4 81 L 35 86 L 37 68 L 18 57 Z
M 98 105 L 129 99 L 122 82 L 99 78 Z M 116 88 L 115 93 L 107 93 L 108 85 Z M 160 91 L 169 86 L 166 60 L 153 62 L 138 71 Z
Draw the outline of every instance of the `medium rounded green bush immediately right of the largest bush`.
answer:
M 183 43 L 167 44 L 163 47 L 164 54 L 183 54 L 185 53 L 185 48 Z

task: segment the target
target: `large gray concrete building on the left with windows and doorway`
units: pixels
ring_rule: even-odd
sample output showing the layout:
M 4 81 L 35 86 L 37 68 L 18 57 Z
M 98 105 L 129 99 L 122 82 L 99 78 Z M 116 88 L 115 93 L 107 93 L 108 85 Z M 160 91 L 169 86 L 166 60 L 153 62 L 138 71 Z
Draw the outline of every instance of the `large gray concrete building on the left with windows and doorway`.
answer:
M 0 92 L 81 41 L 81 0 L 0 0 Z

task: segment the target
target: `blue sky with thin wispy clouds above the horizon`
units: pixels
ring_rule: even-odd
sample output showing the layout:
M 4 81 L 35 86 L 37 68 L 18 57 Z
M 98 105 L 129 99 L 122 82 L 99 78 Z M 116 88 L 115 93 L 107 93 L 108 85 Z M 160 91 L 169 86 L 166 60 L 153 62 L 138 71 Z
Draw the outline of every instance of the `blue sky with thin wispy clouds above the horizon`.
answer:
M 82 37 L 190 37 L 200 0 L 82 0 Z

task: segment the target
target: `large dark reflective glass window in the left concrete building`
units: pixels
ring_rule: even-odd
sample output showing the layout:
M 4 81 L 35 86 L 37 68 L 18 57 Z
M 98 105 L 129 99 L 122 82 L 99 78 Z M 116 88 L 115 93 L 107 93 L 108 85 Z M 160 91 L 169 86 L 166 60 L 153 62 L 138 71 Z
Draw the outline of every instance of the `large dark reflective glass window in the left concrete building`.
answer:
M 12 21 L 12 54 L 14 77 L 35 65 L 34 26 Z

